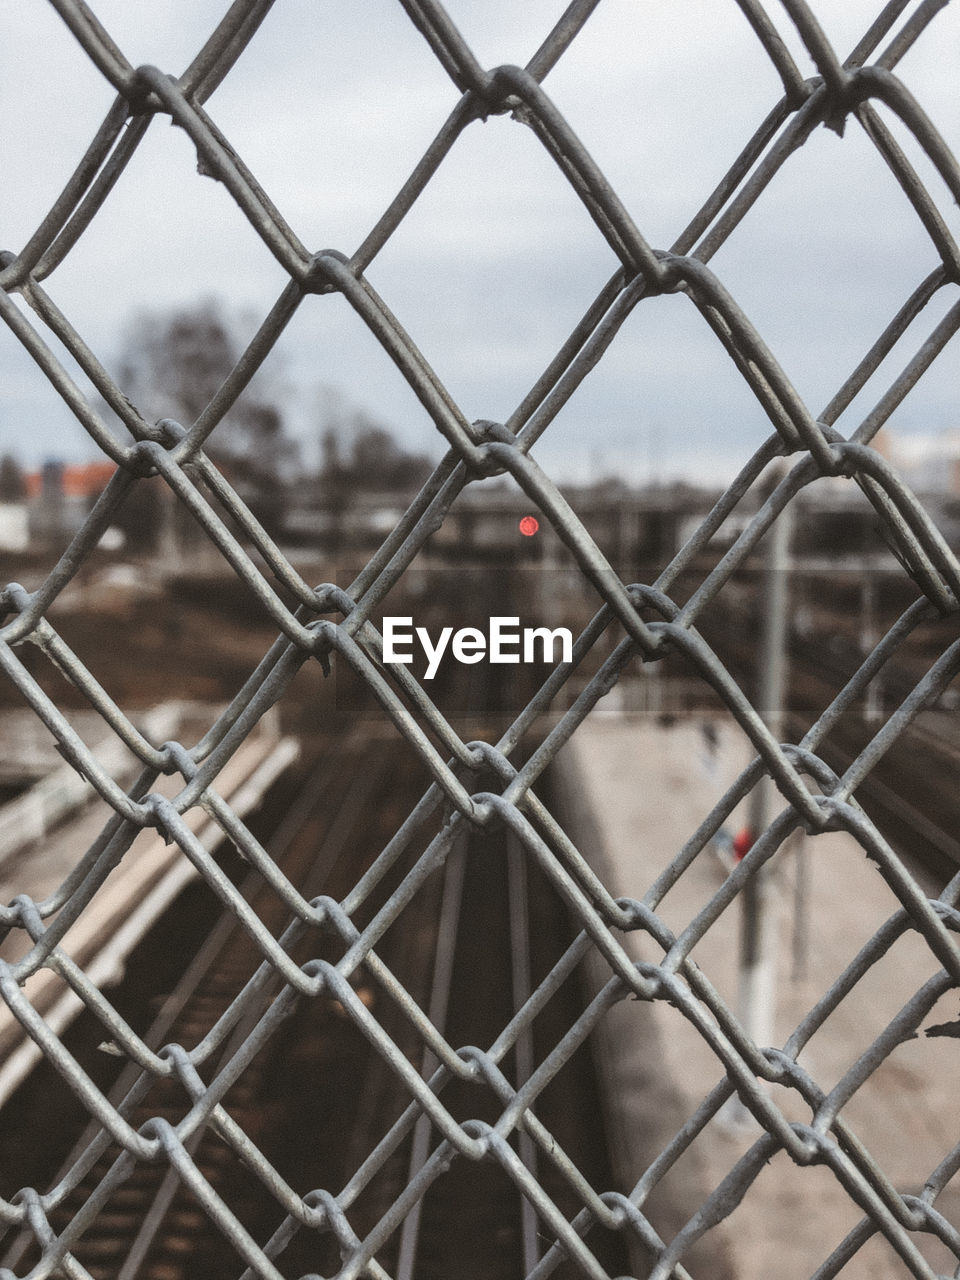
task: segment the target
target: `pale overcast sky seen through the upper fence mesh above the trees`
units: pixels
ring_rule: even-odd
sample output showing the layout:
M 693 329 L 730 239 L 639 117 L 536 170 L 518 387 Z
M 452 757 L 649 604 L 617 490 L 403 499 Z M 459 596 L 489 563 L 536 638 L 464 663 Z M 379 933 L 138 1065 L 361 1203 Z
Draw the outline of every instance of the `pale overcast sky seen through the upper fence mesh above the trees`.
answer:
M 134 64 L 179 73 L 225 0 L 95 0 Z M 448 9 L 486 67 L 525 63 L 562 0 L 461 0 Z M 813 5 L 841 56 L 878 0 Z M 908 12 L 913 10 L 913 5 Z M 813 67 L 776 0 L 771 15 Z M 947 142 L 960 138 L 960 6 L 899 73 Z M 780 97 L 733 0 L 602 0 L 544 84 L 635 223 L 667 248 Z M 49 209 L 113 91 L 42 0 L 5 12 L 0 44 L 0 247 L 19 250 Z M 365 238 L 456 104 L 457 91 L 396 0 L 278 0 L 207 109 L 301 239 L 346 253 Z M 905 142 L 905 145 L 909 145 Z M 913 151 L 911 151 L 913 154 Z M 957 210 L 920 163 L 941 211 Z M 712 266 L 818 412 L 937 257 L 896 182 L 851 124 L 820 128 Z M 467 129 L 369 278 L 468 419 L 507 417 L 616 266 L 532 133 Z M 189 140 L 159 118 L 47 288 L 109 367 L 142 310 L 218 298 L 252 333 L 285 283 Z M 950 292 L 950 297 L 947 297 Z M 942 314 L 954 291 L 936 303 Z M 859 398 L 852 430 L 932 328 L 928 312 Z M 312 448 L 324 389 L 419 448 L 439 436 L 338 297 L 306 300 L 266 372 Z M 92 456 L 82 429 L 4 328 L 0 451 L 28 465 Z M 905 433 L 960 426 L 956 346 L 897 412 Z M 326 396 L 329 402 L 329 394 Z M 554 474 L 721 477 L 767 420 L 682 297 L 637 307 L 536 456 Z

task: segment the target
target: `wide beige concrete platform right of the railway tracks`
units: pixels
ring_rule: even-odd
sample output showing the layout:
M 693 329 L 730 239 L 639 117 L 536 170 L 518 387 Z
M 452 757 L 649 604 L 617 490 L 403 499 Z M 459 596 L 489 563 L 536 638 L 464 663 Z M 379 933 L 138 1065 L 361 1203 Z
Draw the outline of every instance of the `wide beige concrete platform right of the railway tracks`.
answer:
M 750 745 L 727 718 L 710 717 L 712 728 L 704 732 L 704 717 L 678 718 L 672 727 L 663 727 L 650 717 L 598 712 L 561 756 L 568 797 L 564 820 L 613 895 L 643 899 L 750 759 Z M 733 829 L 745 817 L 735 817 Z M 897 908 L 876 865 L 849 836 L 806 837 L 801 856 L 806 865 L 806 909 L 801 915 L 808 942 L 805 968 L 797 972 L 797 856 L 796 850 L 786 849 L 777 855 L 777 1047 Z M 721 858 L 705 850 L 664 897 L 659 914 L 678 932 L 726 874 Z M 801 919 L 801 931 L 803 924 Z M 735 905 L 694 950 L 694 959 L 732 1009 L 737 1001 L 737 941 Z M 625 945 L 637 959 L 659 959 L 649 938 L 628 934 Z M 800 1056 L 801 1064 L 829 1089 L 938 969 L 915 933 L 902 937 L 817 1032 Z M 605 977 L 608 973 L 596 974 L 598 980 Z M 955 1019 L 956 1006 L 956 992 L 950 992 L 925 1025 Z M 602 1056 L 621 1189 L 630 1189 L 723 1073 L 687 1021 L 662 1001 L 631 1000 L 614 1006 L 604 1024 Z M 922 1032 L 901 1043 L 844 1108 L 899 1190 L 918 1193 L 960 1139 L 957 1080 L 957 1041 L 927 1038 Z M 796 1093 L 774 1092 L 790 1120 L 809 1121 L 809 1108 Z M 648 1202 L 662 1236 L 676 1234 L 759 1132 L 751 1119 L 741 1129 L 730 1117 L 710 1123 Z M 960 1188 L 948 1187 L 937 1207 L 960 1224 Z M 797 1167 L 781 1152 L 733 1212 L 684 1261 L 694 1276 L 710 1280 L 801 1280 L 813 1275 L 861 1216 L 829 1170 Z M 925 1235 L 914 1240 L 934 1272 L 952 1274 L 956 1260 L 938 1242 Z M 879 1236 L 842 1272 L 851 1280 L 899 1280 L 909 1274 Z

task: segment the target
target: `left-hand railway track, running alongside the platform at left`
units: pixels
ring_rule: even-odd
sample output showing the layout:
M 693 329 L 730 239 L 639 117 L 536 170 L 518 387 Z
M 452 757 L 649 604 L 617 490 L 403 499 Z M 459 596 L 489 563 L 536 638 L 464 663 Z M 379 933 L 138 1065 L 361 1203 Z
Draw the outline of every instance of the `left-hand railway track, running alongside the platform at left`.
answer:
M 270 841 L 275 861 L 305 895 L 323 892 L 335 877 L 348 840 L 356 832 L 358 817 L 369 805 L 385 768 L 383 759 L 364 771 L 353 768 L 353 764 L 349 753 L 324 751 Z M 287 909 L 282 900 L 256 873 L 246 877 L 242 892 L 268 928 L 279 933 L 287 923 Z M 165 934 L 175 937 L 177 931 L 165 929 L 161 922 L 154 931 L 154 945 L 163 945 Z M 200 946 L 193 959 L 147 1033 L 147 1042 L 152 1047 L 177 1043 L 192 1050 L 227 1012 L 237 992 L 259 966 L 260 954 L 255 943 L 230 914 L 221 915 L 207 937 L 197 941 Z M 265 992 L 265 1002 L 271 995 L 273 991 Z M 261 1012 L 262 1007 L 257 1005 L 230 1029 L 215 1061 L 229 1060 Z M 269 1055 L 256 1057 L 225 1100 L 230 1115 L 253 1140 L 262 1134 L 268 1121 L 265 1100 L 269 1069 Z M 127 1115 L 134 1129 L 150 1116 L 157 1115 L 175 1124 L 186 1110 L 183 1091 L 175 1082 L 165 1079 L 151 1083 L 134 1065 L 120 1073 L 111 1091 L 111 1101 Z M 102 1146 L 97 1134 L 96 1125 L 83 1134 L 61 1172 L 73 1167 L 91 1143 L 95 1144 L 93 1149 Z M 36 1134 L 36 1138 L 41 1137 Z M 84 1176 L 51 1212 L 55 1230 L 63 1229 L 74 1217 L 116 1155 L 118 1151 L 108 1146 L 99 1153 L 99 1158 L 87 1158 L 90 1167 Z M 237 1161 L 225 1144 L 214 1135 L 207 1135 L 196 1144 L 192 1155 L 210 1185 L 232 1203 L 242 1220 L 260 1213 L 259 1203 L 262 1197 L 241 1175 Z M 102 1207 L 77 1245 L 74 1257 L 95 1280 L 101 1276 L 104 1280 L 108 1276 L 116 1280 L 132 1280 L 133 1276 L 169 1280 L 173 1275 L 197 1274 L 192 1268 L 201 1266 L 202 1274 L 211 1277 L 237 1274 L 236 1254 L 225 1270 L 223 1265 L 218 1265 L 216 1257 L 223 1253 L 220 1243 L 175 1175 L 159 1165 L 141 1164 Z M 22 1251 L 23 1242 L 19 1242 L 8 1254 L 5 1265 L 20 1262 Z M 184 1270 L 184 1263 L 189 1271 Z

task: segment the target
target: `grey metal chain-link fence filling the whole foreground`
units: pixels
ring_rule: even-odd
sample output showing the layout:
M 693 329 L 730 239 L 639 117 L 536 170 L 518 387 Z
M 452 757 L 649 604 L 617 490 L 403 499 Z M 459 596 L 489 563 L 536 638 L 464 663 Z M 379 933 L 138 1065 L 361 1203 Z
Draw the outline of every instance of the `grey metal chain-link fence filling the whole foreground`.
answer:
M 782 9 L 769 12 L 756 0 L 739 0 L 751 28 L 750 38 L 759 41 L 782 82 L 782 96 L 716 191 L 707 196 L 690 225 L 666 250 L 648 242 L 544 88 L 550 70 L 589 22 L 596 0 L 573 0 L 545 33 L 526 67 L 493 70 L 480 65 L 440 4 L 402 0 L 410 22 L 449 77 L 453 109 L 387 212 L 352 253 L 312 252 L 224 137 L 215 115 L 205 108 L 264 22 L 270 3 L 236 0 L 182 76 L 133 67 L 82 0 L 51 3 L 113 86 L 116 100 L 63 193 L 27 244 L 19 253 L 3 255 L 0 308 L 10 333 L 44 370 L 91 440 L 116 463 L 116 471 L 42 585 L 31 593 L 15 585 L 6 588 L 0 660 L 5 675 L 56 739 L 64 758 L 109 805 L 111 817 L 88 851 L 77 858 L 59 888 L 42 901 L 20 893 L 3 908 L 5 933 L 24 942 L 18 959 L 0 963 L 4 1001 L 54 1065 L 64 1088 L 79 1100 L 95 1121 L 92 1137 L 74 1153 L 73 1162 L 55 1184 L 24 1189 L 0 1203 L 0 1221 L 8 1239 L 27 1233 L 33 1240 L 38 1261 L 29 1263 L 28 1274 L 37 1277 L 88 1275 L 73 1256 L 78 1243 L 137 1167 L 148 1164 L 161 1166 L 174 1183 L 192 1192 L 204 1216 L 248 1267 L 247 1275 L 276 1280 L 291 1274 L 285 1265 L 291 1242 L 314 1234 L 335 1242 L 342 1257 L 337 1275 L 342 1280 L 383 1276 L 388 1274 L 381 1262 L 384 1251 L 396 1242 L 404 1221 L 410 1221 L 430 1188 L 449 1176 L 451 1167 L 493 1162 L 518 1197 L 532 1207 L 536 1219 L 541 1256 L 527 1260 L 530 1276 L 547 1276 L 558 1266 L 566 1266 L 572 1268 L 571 1275 L 607 1280 L 609 1272 L 593 1248 L 594 1239 L 603 1233 L 626 1239 L 632 1245 L 631 1257 L 646 1257 L 644 1274 L 684 1276 L 691 1248 L 741 1202 L 749 1202 L 755 1180 L 776 1155 L 786 1155 L 805 1176 L 813 1176 L 812 1166 L 827 1170 L 835 1179 L 836 1194 L 850 1198 L 863 1212 L 861 1222 L 838 1247 L 824 1242 L 818 1276 L 836 1275 L 849 1263 L 855 1270 L 860 1251 L 873 1236 L 888 1242 L 891 1256 L 899 1260 L 905 1274 L 927 1280 L 936 1274 L 936 1265 L 927 1260 L 923 1245 L 924 1240 L 936 1238 L 940 1256 L 952 1260 L 948 1263 L 955 1268 L 951 1274 L 960 1274 L 960 1225 L 951 1224 L 938 1208 L 960 1167 L 956 1111 L 941 1117 L 942 1162 L 936 1169 L 918 1170 L 916 1189 L 909 1193 L 892 1185 L 845 1115 L 854 1094 L 899 1044 L 915 1036 L 929 1010 L 960 979 L 956 945 L 960 876 L 951 879 L 938 897 L 929 899 L 856 800 L 858 787 L 874 764 L 946 689 L 960 667 L 960 648 L 956 644 L 942 646 L 901 705 L 855 758 L 844 763 L 842 772 L 836 772 L 833 756 L 829 756 L 833 763 L 828 763 L 827 755 L 820 753 L 841 716 L 864 696 L 869 682 L 914 630 L 931 617 L 955 616 L 960 599 L 960 564 L 942 532 L 897 471 L 870 445 L 960 325 L 960 306 L 954 303 L 942 319 L 927 325 L 915 353 L 909 358 L 900 355 L 899 344 L 908 328 L 923 326 L 925 317 L 933 314 L 933 300 L 942 301 L 960 280 L 960 255 L 948 229 L 948 210 L 943 207 L 947 196 L 960 198 L 960 170 L 934 124 L 897 77 L 899 63 L 916 41 L 938 38 L 941 0 L 922 4 L 892 0 L 883 5 L 845 60 L 803 0 L 783 0 Z M 664 22 L 669 20 L 667 8 Z M 323 20 L 320 10 L 311 20 Z M 805 78 L 792 56 L 790 41 L 783 38 L 785 27 L 799 33 L 815 64 L 817 73 L 812 78 Z M 709 56 L 705 41 L 704 58 Z M 620 262 L 570 338 L 503 424 L 466 419 L 431 369 L 429 352 L 421 353 L 410 339 L 403 328 L 404 317 L 393 315 L 389 300 L 380 298 L 365 275 L 463 134 L 493 115 L 509 115 L 532 131 L 589 212 L 596 234 Z M 229 192 L 237 216 L 247 220 L 262 242 L 264 252 L 271 253 L 288 276 L 280 297 L 234 370 L 196 421 L 184 424 L 148 421 L 41 283 L 74 253 L 82 256 L 83 232 L 114 186 L 124 180 L 128 164 L 157 118 L 172 120 L 189 137 L 202 172 Z M 896 315 L 888 323 L 877 324 L 878 334 L 869 352 L 827 408 L 815 416 L 709 264 L 776 175 L 790 166 L 820 125 L 838 133 L 846 128 L 847 137 L 865 134 L 886 164 L 890 182 L 899 184 L 910 201 L 916 215 L 918 239 L 932 246 L 938 261 Z M 637 128 L 644 127 L 648 127 L 644 122 L 637 124 Z M 915 143 L 916 155 L 925 157 L 927 184 L 908 156 L 910 148 L 900 141 L 908 136 L 913 140 L 911 146 Z M 929 189 L 934 172 L 937 196 Z M 815 216 L 815 210 L 809 214 Z M 470 252 L 471 246 L 463 244 L 462 253 Z M 613 572 L 577 512 L 531 457 L 531 447 L 602 361 L 631 312 L 664 293 L 680 296 L 682 305 L 705 321 L 769 419 L 772 433 L 744 462 L 736 480 L 657 580 L 630 582 Z M 26 306 L 15 301 L 18 294 Z M 305 581 L 205 453 L 207 440 L 294 312 L 307 303 L 323 305 L 328 294 L 342 296 L 353 308 L 448 444 L 429 483 L 346 589 L 330 584 L 315 589 Z M 47 344 L 45 333 L 56 342 Z M 69 352 L 97 396 L 129 433 L 132 443 L 111 425 L 99 401 L 81 392 L 56 355 L 58 346 Z M 876 407 L 841 431 L 836 424 L 888 357 L 896 371 L 886 379 Z M 776 460 L 785 461 L 777 463 Z M 758 481 L 769 475 L 772 463 L 781 470 L 776 472 L 776 483 L 764 490 L 756 513 L 726 550 L 713 553 L 714 535 L 739 515 L 745 500 L 755 495 Z M 429 685 L 415 680 L 404 666 L 383 662 L 383 639 L 372 620 L 387 594 L 442 526 L 458 495 L 468 485 L 504 475 L 512 477 L 531 509 L 538 511 L 541 522 L 547 522 L 564 544 L 571 562 L 576 562 L 595 591 L 598 612 L 576 637 L 572 660 L 557 666 L 527 705 L 516 709 L 513 723 L 493 746 L 463 741 L 431 701 Z M 97 547 L 120 504 L 136 504 L 145 484 L 157 476 L 202 527 L 278 632 L 275 644 L 264 654 L 242 691 L 191 749 L 178 742 L 157 745 L 140 732 L 97 676 L 59 637 L 47 617 L 54 602 Z M 718 594 L 764 532 L 799 494 L 822 477 L 847 477 L 855 483 L 863 500 L 876 512 L 884 539 L 895 548 L 904 575 L 913 580 L 918 595 L 852 678 L 835 690 L 829 704 L 803 739 L 781 742 L 704 641 L 698 623 L 709 614 Z M 708 567 L 701 570 L 704 564 Z M 671 593 L 681 575 L 691 568 L 700 573 L 698 585 L 678 603 Z M 596 649 L 600 637 L 609 635 L 617 637 L 609 657 L 582 691 L 567 701 L 571 678 Z M 64 713 L 42 691 L 24 663 L 22 646 L 27 641 L 42 650 L 45 660 L 59 668 L 102 717 L 110 732 L 140 759 L 142 772 L 132 786 L 124 788 L 113 780 Z M 664 859 L 655 882 L 637 886 L 645 896 L 614 900 L 591 869 L 585 851 L 575 847 L 538 796 L 538 783 L 559 749 L 621 675 L 628 668 L 636 669 L 639 663 L 657 664 L 667 654 L 684 655 L 713 687 L 753 744 L 755 759 L 686 845 L 671 851 L 672 859 Z M 392 719 L 402 750 L 412 753 L 433 778 L 429 791 L 371 868 L 340 900 L 305 897 L 218 794 L 218 782 L 228 762 L 264 714 L 283 700 L 305 663 L 319 663 L 324 669 L 332 664 L 352 668 Z M 566 709 L 532 753 L 522 758 L 526 730 L 552 707 Z M 161 774 L 175 780 L 173 794 L 154 790 Z M 479 777 L 484 780 L 483 790 L 476 786 Z M 772 820 L 710 900 L 685 928 L 672 932 L 658 915 L 662 897 L 704 856 L 716 832 L 762 777 L 771 778 L 776 786 Z M 200 840 L 187 820 L 197 808 L 270 886 L 285 909 L 285 931 L 269 927 L 224 874 L 209 842 Z M 255 975 L 236 992 L 227 1011 L 189 1051 L 175 1043 L 164 1047 L 147 1043 L 61 946 L 68 928 L 83 913 L 97 910 L 101 886 L 143 829 L 157 832 L 193 865 L 211 893 L 241 923 L 261 959 Z M 454 865 L 462 838 L 476 829 L 508 836 L 513 847 L 522 851 L 522 860 L 539 867 L 567 904 L 580 932 L 497 1038 L 480 1047 L 465 1048 L 448 1042 L 433 1025 L 428 1012 L 417 1007 L 383 961 L 378 947 L 431 877 Z M 877 864 L 899 906 L 847 970 L 823 991 L 787 1043 L 772 1047 L 753 1039 L 712 986 L 709 973 L 694 963 L 691 951 L 723 910 L 749 893 L 765 868 L 777 864 L 787 837 L 797 829 L 806 832 L 814 844 L 822 833 L 847 832 Z M 356 919 L 362 916 L 364 904 L 384 878 L 389 878 L 402 856 L 410 858 L 410 863 L 403 864 L 407 869 L 402 878 L 360 928 Z M 855 906 L 850 904 L 851 911 Z M 845 1002 L 864 998 L 860 992 L 865 979 L 904 933 L 923 940 L 934 960 L 933 975 L 923 980 L 918 977 L 911 998 L 867 1047 L 851 1055 L 842 1076 L 824 1088 L 814 1069 L 799 1060 L 801 1051 Z M 637 963 L 625 946 L 628 934 L 644 934 L 657 959 Z M 306 963 L 300 959 L 298 950 L 305 938 L 323 940 L 323 946 L 317 941 Z M 325 959 L 319 957 L 321 952 Z M 556 1043 L 529 1061 L 521 1083 L 513 1083 L 504 1074 L 504 1060 L 588 954 L 599 957 L 605 973 L 599 993 Z M 125 1098 L 108 1097 L 35 1007 L 24 984 L 44 970 L 59 974 L 69 984 L 102 1024 L 114 1052 L 134 1065 Z M 383 1001 L 401 1011 L 429 1055 L 429 1070 L 421 1073 L 420 1064 L 413 1064 L 398 1047 L 378 1015 L 380 1005 L 358 993 L 356 978 L 360 973 L 375 986 Z M 356 1167 L 343 1187 L 301 1187 L 288 1181 L 224 1102 L 234 1083 L 252 1070 L 257 1053 L 291 1011 L 321 998 L 339 1002 L 347 1024 L 358 1029 L 387 1064 L 397 1093 L 408 1103 L 393 1128 L 370 1149 L 357 1155 Z M 627 1007 L 637 1010 L 646 1002 L 673 1006 L 716 1055 L 719 1083 L 689 1114 L 635 1185 L 595 1187 L 538 1117 L 538 1100 L 556 1073 L 603 1024 L 609 1009 L 630 1001 L 634 1004 Z M 229 1052 L 224 1052 L 225 1046 Z M 173 1082 L 177 1106 L 142 1121 L 137 1119 L 134 1124 L 131 1117 L 140 1116 L 136 1110 L 140 1100 L 157 1080 Z M 457 1119 L 445 1105 L 452 1082 L 468 1082 L 488 1100 L 495 1100 L 495 1121 Z M 805 1107 L 809 1117 L 804 1123 L 788 1119 L 781 1105 L 785 1094 Z M 648 1202 L 669 1170 L 695 1147 L 735 1096 L 759 1124 L 759 1137 L 740 1158 L 731 1161 L 724 1180 L 690 1211 L 686 1225 L 664 1238 L 655 1215 L 648 1215 Z M 422 1117 L 429 1117 L 425 1129 L 420 1123 Z M 269 1239 L 251 1234 L 195 1158 L 197 1140 L 206 1130 L 219 1135 L 232 1158 L 252 1170 L 262 1197 L 275 1202 L 283 1221 Z M 352 1219 L 355 1201 L 393 1152 L 413 1134 L 420 1134 L 413 1140 L 421 1143 L 421 1151 L 411 1165 L 408 1181 L 376 1224 L 358 1234 Z M 909 1143 L 910 1134 L 905 1133 L 902 1140 Z M 323 1133 L 317 1133 L 316 1142 L 324 1142 Z M 93 1185 L 84 1184 L 82 1204 L 70 1221 L 54 1228 L 58 1207 L 76 1193 L 102 1153 L 111 1151 L 115 1156 L 102 1175 L 97 1175 Z M 530 1160 L 530 1151 L 535 1152 L 535 1162 Z M 539 1169 L 540 1174 L 535 1176 L 531 1169 Z M 549 1176 L 544 1170 L 549 1170 Z M 580 1206 L 572 1216 L 561 1211 L 557 1196 L 548 1189 L 558 1183 L 567 1193 L 572 1192 Z M 803 1201 L 785 1211 L 803 1213 Z M 456 1224 L 451 1229 L 456 1230 Z M 407 1265 L 401 1251 L 398 1274 Z M 12 1266 L 1 1274 L 24 1274 Z M 864 1274 L 863 1270 L 859 1274 Z

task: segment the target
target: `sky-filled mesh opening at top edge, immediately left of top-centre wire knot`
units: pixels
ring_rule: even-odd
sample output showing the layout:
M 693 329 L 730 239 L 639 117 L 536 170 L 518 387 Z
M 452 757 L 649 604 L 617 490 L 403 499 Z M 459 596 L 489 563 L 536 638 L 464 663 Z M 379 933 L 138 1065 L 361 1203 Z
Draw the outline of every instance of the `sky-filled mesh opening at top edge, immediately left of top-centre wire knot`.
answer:
M 211 102 L 224 132 L 236 134 L 250 166 L 311 242 L 358 243 L 456 105 L 456 91 L 403 12 L 372 9 L 358 59 L 356 13 L 332 10 L 323 28 L 305 28 L 298 5 L 274 6 Z M 399 148 L 383 131 L 397 116 L 410 128 Z

